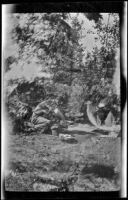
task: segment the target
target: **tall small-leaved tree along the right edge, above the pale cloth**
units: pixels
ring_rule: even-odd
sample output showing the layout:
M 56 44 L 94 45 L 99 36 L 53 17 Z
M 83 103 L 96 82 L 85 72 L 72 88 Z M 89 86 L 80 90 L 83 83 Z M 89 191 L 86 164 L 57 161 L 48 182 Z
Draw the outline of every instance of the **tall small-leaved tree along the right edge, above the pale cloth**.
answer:
M 115 86 L 112 84 L 116 70 L 116 49 L 119 47 L 119 19 L 116 14 L 112 26 L 107 27 L 99 21 L 95 28 L 101 41 L 101 48 L 93 48 L 87 55 L 84 77 L 88 86 L 87 99 L 96 103 L 106 98 L 112 91 L 115 94 Z M 110 17 L 110 15 L 109 15 Z

